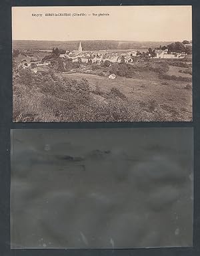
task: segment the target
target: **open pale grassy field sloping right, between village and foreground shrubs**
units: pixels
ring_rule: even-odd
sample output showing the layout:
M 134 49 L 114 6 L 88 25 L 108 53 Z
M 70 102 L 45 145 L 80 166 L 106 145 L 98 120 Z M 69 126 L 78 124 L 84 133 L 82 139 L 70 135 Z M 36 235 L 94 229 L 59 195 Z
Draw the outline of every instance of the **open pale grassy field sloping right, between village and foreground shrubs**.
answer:
M 172 67 L 177 70 L 179 67 Z M 190 76 L 189 74 L 179 73 L 179 76 Z M 157 106 L 171 111 L 173 114 L 179 112 L 180 118 L 185 116 L 184 120 L 192 118 L 192 90 L 186 89 L 186 82 L 167 81 L 163 85 L 163 80 L 159 80 L 155 72 L 138 72 L 137 78 L 117 77 L 115 80 L 95 76 L 91 74 L 62 74 L 67 78 L 81 79 L 86 78 L 91 85 L 91 89 L 99 87 L 103 92 L 110 92 L 115 87 L 132 102 L 144 103 L 149 100 L 155 100 Z

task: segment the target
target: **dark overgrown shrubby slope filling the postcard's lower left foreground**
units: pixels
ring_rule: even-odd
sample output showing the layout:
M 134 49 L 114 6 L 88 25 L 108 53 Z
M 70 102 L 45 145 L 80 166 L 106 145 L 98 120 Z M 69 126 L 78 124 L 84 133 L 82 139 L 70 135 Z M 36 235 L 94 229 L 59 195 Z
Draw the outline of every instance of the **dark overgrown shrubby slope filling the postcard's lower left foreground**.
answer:
M 29 71 L 25 71 L 29 72 Z M 23 73 L 23 72 L 22 72 Z M 29 81 L 31 79 L 31 81 Z M 23 83 L 19 83 L 23 82 Z M 29 83 L 30 82 L 30 83 Z M 28 73 L 13 84 L 14 122 L 147 122 L 183 120 L 179 111 L 161 108 L 154 99 L 134 102 L 117 88 L 109 94 L 98 86 L 94 97 L 85 79 L 71 80 L 47 74 Z M 98 92 L 99 91 L 99 92 Z M 101 100 L 99 100 L 101 98 Z

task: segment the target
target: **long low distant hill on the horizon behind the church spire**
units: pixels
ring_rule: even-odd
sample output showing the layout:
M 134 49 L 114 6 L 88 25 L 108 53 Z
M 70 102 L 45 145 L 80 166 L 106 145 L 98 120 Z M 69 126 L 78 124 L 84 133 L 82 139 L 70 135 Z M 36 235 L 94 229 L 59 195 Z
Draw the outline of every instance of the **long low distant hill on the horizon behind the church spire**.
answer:
M 168 45 L 171 41 L 111 41 L 111 40 L 95 40 L 95 41 L 81 41 L 83 50 L 94 51 L 101 49 L 148 49 L 155 48 L 159 45 Z M 79 41 L 36 41 L 36 40 L 13 40 L 13 49 L 27 50 L 27 49 L 59 49 L 73 50 L 78 49 Z

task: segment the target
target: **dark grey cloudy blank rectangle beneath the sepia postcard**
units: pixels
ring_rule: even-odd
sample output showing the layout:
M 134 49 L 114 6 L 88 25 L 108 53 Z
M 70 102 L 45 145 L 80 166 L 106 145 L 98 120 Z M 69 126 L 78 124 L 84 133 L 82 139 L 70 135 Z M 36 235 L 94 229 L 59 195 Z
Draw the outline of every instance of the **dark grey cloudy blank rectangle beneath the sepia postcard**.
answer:
M 192 245 L 192 128 L 11 130 L 11 249 Z

